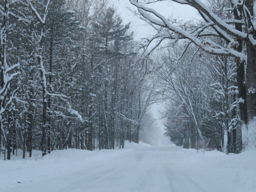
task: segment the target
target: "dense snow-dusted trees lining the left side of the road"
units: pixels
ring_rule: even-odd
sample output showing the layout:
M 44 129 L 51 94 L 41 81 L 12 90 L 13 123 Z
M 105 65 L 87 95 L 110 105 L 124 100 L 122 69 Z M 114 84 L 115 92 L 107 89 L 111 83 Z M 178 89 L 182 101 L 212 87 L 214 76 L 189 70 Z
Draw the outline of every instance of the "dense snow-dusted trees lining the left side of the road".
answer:
M 139 141 L 148 105 L 141 95 L 150 94 L 130 24 L 106 1 L 6 0 L 0 24 L 0 144 L 7 159 L 18 149 L 25 158 L 33 149 L 44 156 Z

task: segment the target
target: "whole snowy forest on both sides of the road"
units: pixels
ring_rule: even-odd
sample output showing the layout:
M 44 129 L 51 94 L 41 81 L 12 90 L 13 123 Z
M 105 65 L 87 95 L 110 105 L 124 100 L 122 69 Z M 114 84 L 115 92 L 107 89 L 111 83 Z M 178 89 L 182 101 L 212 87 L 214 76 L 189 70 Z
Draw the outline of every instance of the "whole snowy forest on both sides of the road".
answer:
M 139 143 L 157 102 L 176 145 L 255 147 L 254 2 L 175 0 L 194 22 L 130 2 L 151 37 L 135 40 L 108 0 L 0 2 L 0 158 Z

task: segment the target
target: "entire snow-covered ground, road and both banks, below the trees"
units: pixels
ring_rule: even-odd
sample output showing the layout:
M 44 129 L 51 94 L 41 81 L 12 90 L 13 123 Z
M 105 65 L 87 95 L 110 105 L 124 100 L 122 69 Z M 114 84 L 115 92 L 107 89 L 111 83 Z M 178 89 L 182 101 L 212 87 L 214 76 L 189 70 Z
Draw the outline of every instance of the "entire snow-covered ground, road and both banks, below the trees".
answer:
M 3 158 L 3 156 L 1 157 Z M 13 158 L 14 159 L 14 158 Z M 0 191 L 255 191 L 256 151 L 225 155 L 125 143 L 123 150 L 64 150 L 0 161 Z

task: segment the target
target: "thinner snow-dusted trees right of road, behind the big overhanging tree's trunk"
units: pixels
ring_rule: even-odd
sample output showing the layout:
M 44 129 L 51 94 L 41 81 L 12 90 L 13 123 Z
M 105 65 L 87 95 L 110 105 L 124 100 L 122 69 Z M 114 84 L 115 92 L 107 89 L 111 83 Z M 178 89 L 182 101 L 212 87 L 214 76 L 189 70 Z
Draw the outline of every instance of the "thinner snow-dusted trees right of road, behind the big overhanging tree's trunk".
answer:
M 182 49 L 180 49 L 182 50 Z M 198 132 L 209 147 L 225 153 L 242 150 L 238 119 L 236 64 L 224 57 L 192 54 L 158 71 L 166 111 L 166 134 L 185 148 L 201 147 Z M 163 58 L 166 60 L 166 58 Z M 236 130 L 236 132 L 234 132 Z

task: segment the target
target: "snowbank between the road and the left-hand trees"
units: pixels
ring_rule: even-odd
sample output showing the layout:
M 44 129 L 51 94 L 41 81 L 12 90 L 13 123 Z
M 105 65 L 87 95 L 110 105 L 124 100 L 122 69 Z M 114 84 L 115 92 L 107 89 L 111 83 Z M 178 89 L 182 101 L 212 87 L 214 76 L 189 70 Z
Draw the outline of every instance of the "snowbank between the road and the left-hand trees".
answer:
M 130 143 L 127 145 L 127 148 L 134 148 L 129 147 Z M 131 145 L 134 145 L 134 143 Z M 131 150 L 101 150 L 92 152 L 68 149 L 53 151 L 44 157 L 41 157 L 40 151 L 33 151 L 31 158 L 26 154 L 26 159 L 22 159 L 22 151 L 19 151 L 18 156 L 12 156 L 10 161 L 3 160 L 3 154 L 1 154 L 0 191 L 5 191 L 2 189 L 26 186 L 46 178 L 54 178 L 58 175 L 69 175 L 84 167 L 93 167 L 113 159 L 118 159 L 127 153 L 131 153 Z

